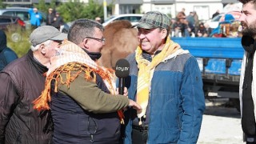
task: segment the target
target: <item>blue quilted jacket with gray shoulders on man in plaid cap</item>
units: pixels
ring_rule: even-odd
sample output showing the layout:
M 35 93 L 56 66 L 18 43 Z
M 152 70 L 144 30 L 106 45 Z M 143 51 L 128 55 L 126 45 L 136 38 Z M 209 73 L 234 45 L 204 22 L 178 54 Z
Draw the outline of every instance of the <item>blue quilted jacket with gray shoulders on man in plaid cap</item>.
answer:
M 137 93 L 138 66 L 135 54 L 130 62 L 126 86 L 130 99 Z M 148 144 L 196 143 L 205 110 L 201 72 L 191 54 L 181 54 L 155 67 L 150 87 L 150 122 Z M 126 111 L 125 143 L 131 144 L 132 120 L 135 110 Z

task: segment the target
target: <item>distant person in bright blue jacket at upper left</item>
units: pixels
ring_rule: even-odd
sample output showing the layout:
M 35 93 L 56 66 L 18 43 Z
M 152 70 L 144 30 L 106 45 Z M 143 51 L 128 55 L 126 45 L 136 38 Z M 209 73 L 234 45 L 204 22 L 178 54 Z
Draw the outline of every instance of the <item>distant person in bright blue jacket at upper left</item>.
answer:
M 30 14 L 30 24 L 33 29 L 41 26 L 42 14 L 38 12 L 38 8 L 34 7 L 29 10 Z

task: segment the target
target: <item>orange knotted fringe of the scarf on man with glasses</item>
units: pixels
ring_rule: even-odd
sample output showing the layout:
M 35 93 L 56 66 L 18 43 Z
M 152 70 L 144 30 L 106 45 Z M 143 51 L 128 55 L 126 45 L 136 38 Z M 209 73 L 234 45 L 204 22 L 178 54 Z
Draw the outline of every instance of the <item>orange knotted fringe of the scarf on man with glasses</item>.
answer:
M 111 73 L 114 72 L 112 69 L 108 69 Z M 76 71 L 75 74 L 71 74 L 71 71 Z M 98 69 L 91 68 L 90 66 L 87 66 L 84 63 L 78 63 L 78 62 L 69 62 L 65 65 L 62 65 L 58 67 L 56 70 L 54 70 L 52 73 L 50 73 L 46 77 L 45 82 L 45 89 L 42 91 L 42 94 L 34 100 L 33 108 L 41 111 L 41 110 L 50 110 L 49 102 L 51 101 L 50 96 L 50 90 L 51 90 L 51 82 L 52 80 L 55 80 L 54 82 L 54 92 L 58 92 L 58 85 L 66 85 L 70 87 L 70 83 L 74 82 L 75 78 L 78 78 L 78 75 L 84 72 L 84 78 L 86 81 L 89 82 L 96 82 L 96 75 L 95 73 L 99 74 L 103 80 L 107 80 L 110 82 L 110 75 L 107 74 L 104 70 L 102 70 L 101 67 L 98 67 Z M 62 73 L 66 73 L 66 81 L 63 81 Z M 124 114 L 122 113 L 122 110 L 118 110 L 118 116 L 120 118 L 120 121 L 122 124 L 124 124 Z

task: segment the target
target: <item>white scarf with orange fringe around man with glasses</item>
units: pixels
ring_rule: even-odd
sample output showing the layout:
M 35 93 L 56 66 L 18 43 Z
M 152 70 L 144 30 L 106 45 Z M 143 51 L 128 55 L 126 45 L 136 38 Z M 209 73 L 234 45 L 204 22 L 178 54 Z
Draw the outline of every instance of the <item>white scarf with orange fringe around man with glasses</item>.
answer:
M 70 86 L 71 82 L 78 77 L 78 74 L 84 72 L 85 80 L 96 82 L 95 73 L 102 77 L 103 82 L 106 84 L 110 94 L 116 94 L 114 82 L 114 70 L 106 69 L 98 66 L 82 48 L 75 45 L 73 42 L 65 41 L 58 50 L 58 55 L 50 58 L 51 65 L 46 74 L 45 90 L 39 98 L 34 100 L 34 109 L 49 110 L 48 102 L 50 98 L 51 81 L 55 80 L 54 92 L 58 91 L 58 84 Z M 71 71 L 76 71 L 76 74 L 71 74 Z M 94 72 L 94 75 L 91 75 Z M 66 73 L 66 82 L 63 81 L 62 73 Z M 123 123 L 122 110 L 118 110 L 118 116 Z

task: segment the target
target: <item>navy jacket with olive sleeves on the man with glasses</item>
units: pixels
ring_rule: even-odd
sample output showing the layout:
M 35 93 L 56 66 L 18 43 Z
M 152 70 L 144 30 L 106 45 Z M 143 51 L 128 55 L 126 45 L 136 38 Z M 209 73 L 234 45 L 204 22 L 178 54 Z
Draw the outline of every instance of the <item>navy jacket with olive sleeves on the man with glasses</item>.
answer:
M 89 55 L 92 59 L 100 56 Z M 77 72 L 73 70 L 73 73 Z M 117 110 L 128 106 L 129 101 L 120 95 L 110 95 L 98 74 L 96 83 L 86 81 L 85 75 L 79 74 L 69 87 L 58 85 L 58 92 L 51 94 L 54 143 L 118 144 L 121 125 Z M 62 78 L 66 82 L 66 73 L 62 73 Z M 54 86 L 51 88 L 53 92 Z

